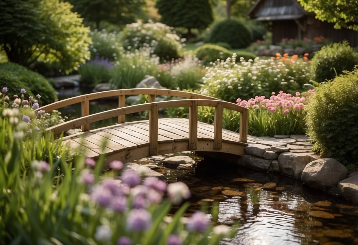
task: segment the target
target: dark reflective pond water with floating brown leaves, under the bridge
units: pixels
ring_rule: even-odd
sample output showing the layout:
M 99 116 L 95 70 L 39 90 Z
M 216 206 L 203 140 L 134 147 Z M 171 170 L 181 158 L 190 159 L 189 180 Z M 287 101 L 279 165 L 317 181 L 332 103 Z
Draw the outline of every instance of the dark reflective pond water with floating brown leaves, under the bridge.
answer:
M 59 91 L 59 98 L 86 94 L 91 91 L 70 89 Z M 116 108 L 116 101 L 96 101 L 91 113 Z M 81 105 L 61 110 L 63 115 L 76 117 Z M 140 120 L 137 115 L 127 121 Z M 100 127 L 117 122 L 113 118 Z M 176 154 L 177 155 L 177 154 Z M 195 155 L 190 154 L 195 157 Z M 240 223 L 237 234 L 222 242 L 225 245 L 354 245 L 358 244 L 358 204 L 302 184 L 300 180 L 238 168 L 223 161 L 197 157 L 192 170 L 167 169 L 159 172 L 169 182 L 183 181 L 192 192 L 189 212 L 207 203 L 219 206 L 218 223 Z M 147 162 L 142 162 L 147 163 Z

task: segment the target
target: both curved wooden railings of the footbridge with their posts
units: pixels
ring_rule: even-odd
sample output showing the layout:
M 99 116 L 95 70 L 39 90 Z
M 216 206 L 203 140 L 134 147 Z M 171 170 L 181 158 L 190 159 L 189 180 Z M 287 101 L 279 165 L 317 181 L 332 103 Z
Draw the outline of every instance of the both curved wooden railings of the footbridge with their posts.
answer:
M 149 95 L 148 103 L 139 105 L 125 106 L 126 95 Z M 156 95 L 169 95 L 176 97 L 187 97 L 189 99 L 170 100 L 154 102 Z M 98 112 L 89 115 L 89 101 L 101 99 L 105 97 L 118 96 L 118 108 Z M 240 112 L 240 142 L 247 143 L 248 131 L 248 109 L 237 104 L 218 100 L 211 96 L 199 95 L 192 92 L 184 92 L 168 89 L 123 89 L 110 90 L 92 94 L 72 97 L 69 99 L 54 102 L 52 104 L 40 107 L 38 110 L 45 110 L 46 112 L 57 110 L 61 107 L 77 104 L 81 102 L 82 116 L 63 122 L 58 125 L 49 127 L 48 131 L 53 131 L 55 135 L 60 134 L 69 129 L 74 129 L 81 126 L 82 131 L 89 130 L 89 124 L 96 121 L 112 118 L 118 116 L 118 123 L 125 122 L 125 115 L 137 113 L 141 111 L 149 111 L 149 147 L 150 154 L 155 155 L 158 146 L 158 119 L 159 109 L 169 107 L 189 107 L 189 150 L 197 149 L 198 144 L 198 106 L 212 106 L 215 108 L 214 112 L 214 149 L 221 149 L 222 147 L 222 121 L 223 109 L 230 109 Z

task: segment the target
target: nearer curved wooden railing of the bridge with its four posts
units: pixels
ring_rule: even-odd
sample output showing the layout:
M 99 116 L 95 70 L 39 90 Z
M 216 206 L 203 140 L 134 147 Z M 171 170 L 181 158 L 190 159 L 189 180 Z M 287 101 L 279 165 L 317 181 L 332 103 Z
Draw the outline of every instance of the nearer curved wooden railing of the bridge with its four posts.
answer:
M 222 147 L 222 118 L 223 108 L 240 112 L 240 142 L 247 143 L 248 131 L 248 109 L 246 107 L 217 99 L 185 99 L 185 100 L 171 100 L 161 102 L 149 102 L 139 105 L 131 105 L 120 107 L 108 111 L 98 112 L 92 115 L 82 116 L 78 119 L 73 119 L 62 124 L 49 127 L 48 131 L 53 131 L 54 134 L 59 134 L 63 131 L 73 129 L 78 126 L 89 125 L 89 123 L 108 119 L 115 116 L 122 116 L 126 114 L 136 113 L 144 110 L 149 110 L 149 151 L 151 155 L 156 154 L 158 146 L 158 114 L 159 108 L 168 107 L 189 107 L 189 150 L 197 149 L 198 144 L 198 106 L 212 106 L 215 107 L 214 114 L 214 149 L 221 149 Z

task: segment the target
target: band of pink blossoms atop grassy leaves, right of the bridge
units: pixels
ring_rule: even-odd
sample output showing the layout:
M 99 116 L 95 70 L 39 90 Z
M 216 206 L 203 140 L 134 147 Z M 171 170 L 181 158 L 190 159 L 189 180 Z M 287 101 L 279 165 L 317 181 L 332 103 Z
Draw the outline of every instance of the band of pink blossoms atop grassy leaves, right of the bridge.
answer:
M 303 95 L 301 95 L 300 92 L 296 92 L 295 96 L 284 93 L 282 90 L 277 95 L 275 95 L 275 92 L 272 92 L 271 94 L 270 99 L 267 99 L 266 96 L 255 96 L 255 98 L 249 100 L 241 100 L 238 98 L 236 103 L 245 106 L 246 108 L 252 106 L 255 110 L 261 107 L 271 112 L 281 110 L 284 114 L 287 114 L 292 109 L 304 109 L 306 107 L 305 102 L 314 94 L 314 90 L 310 89 Z

